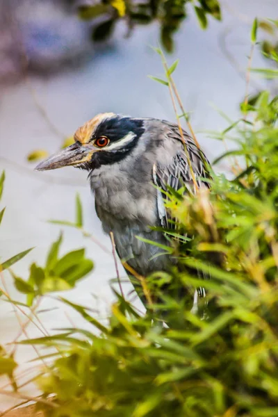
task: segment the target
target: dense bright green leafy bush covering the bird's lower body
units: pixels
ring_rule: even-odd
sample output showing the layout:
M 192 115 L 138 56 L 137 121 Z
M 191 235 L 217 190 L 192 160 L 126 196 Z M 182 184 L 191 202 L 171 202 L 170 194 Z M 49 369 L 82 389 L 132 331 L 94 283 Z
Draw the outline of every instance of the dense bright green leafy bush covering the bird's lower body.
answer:
M 23 342 L 63 348 L 38 380 L 44 398 L 55 395 L 56 407 L 44 407 L 47 416 L 277 416 L 277 97 L 263 91 L 242 110 L 243 118 L 217 136 L 234 141 L 215 160 L 233 165 L 234 177 L 211 172 L 210 190 L 167 192 L 177 240 L 163 250 L 179 258 L 180 268 L 141 277 L 147 312 L 114 290 L 104 325 L 90 309 L 60 299 L 81 314 L 86 329 Z M 79 229 L 80 207 L 77 197 Z M 56 275 L 69 261 L 58 259 L 60 240 L 46 265 Z M 70 259 L 82 256 L 79 250 Z M 206 297 L 193 305 L 196 288 Z

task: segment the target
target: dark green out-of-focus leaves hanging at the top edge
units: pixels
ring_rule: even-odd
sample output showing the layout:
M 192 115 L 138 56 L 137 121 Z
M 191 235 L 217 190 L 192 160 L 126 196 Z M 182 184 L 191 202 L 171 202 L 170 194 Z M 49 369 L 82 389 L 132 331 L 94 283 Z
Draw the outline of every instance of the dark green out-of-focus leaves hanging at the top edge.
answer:
M 190 0 L 156 0 L 148 2 L 109 0 L 99 1 L 92 6 L 81 6 L 79 17 L 90 20 L 104 17 L 92 31 L 92 40 L 106 40 L 115 28 L 115 23 L 124 18 L 129 30 L 137 24 L 149 24 L 158 21 L 161 26 L 161 43 L 166 51 L 174 48 L 173 35 L 186 19 L 186 8 Z M 193 6 L 201 28 L 208 26 L 208 16 L 221 19 L 218 0 L 198 0 L 197 6 Z

